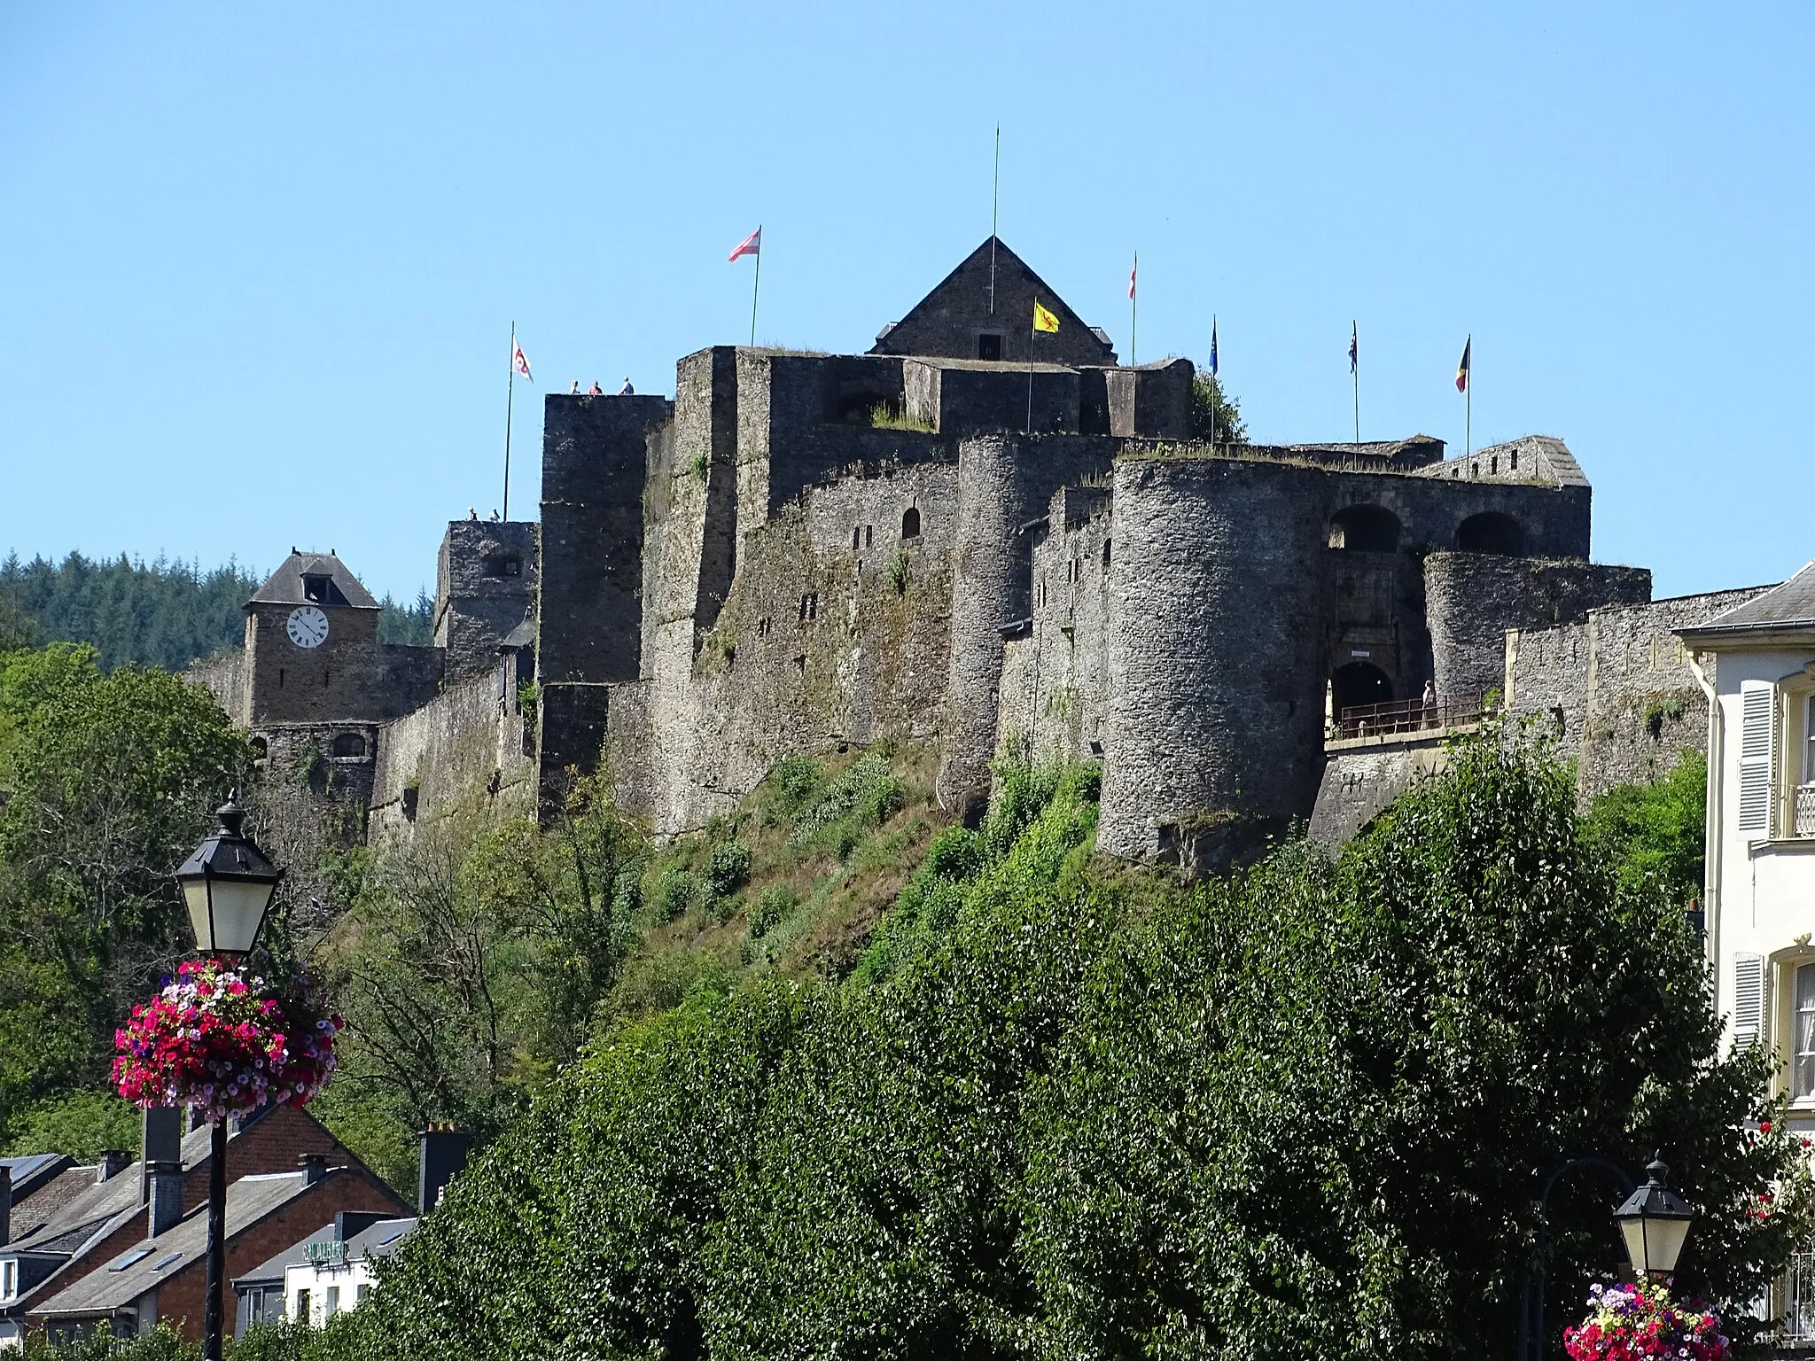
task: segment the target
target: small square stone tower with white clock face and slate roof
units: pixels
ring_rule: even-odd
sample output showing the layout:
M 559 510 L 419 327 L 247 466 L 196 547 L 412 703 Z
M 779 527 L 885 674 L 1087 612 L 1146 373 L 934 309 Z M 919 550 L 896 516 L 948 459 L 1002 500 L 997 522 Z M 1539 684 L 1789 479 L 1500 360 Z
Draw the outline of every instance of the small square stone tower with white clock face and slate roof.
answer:
M 249 728 L 374 717 L 378 601 L 334 553 L 290 550 L 245 604 Z

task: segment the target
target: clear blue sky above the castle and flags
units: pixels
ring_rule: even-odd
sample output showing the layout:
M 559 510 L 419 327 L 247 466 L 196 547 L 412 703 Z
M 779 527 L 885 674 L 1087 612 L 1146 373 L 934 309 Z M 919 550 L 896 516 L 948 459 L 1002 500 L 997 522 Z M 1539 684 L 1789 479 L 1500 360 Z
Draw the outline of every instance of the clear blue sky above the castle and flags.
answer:
M 1775 581 L 1810 512 L 1815 9 L 0 0 L 0 552 L 434 583 L 570 379 L 862 350 L 989 232 L 1261 439 L 1555 434 L 1595 557 Z

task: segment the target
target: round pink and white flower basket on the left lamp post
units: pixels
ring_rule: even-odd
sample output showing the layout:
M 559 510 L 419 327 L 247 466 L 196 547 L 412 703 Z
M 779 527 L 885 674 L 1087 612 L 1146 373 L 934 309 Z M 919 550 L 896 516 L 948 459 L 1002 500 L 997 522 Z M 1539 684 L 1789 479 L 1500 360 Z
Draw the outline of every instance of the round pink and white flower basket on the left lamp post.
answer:
M 189 1105 L 211 1121 L 307 1105 L 334 1072 L 343 1025 L 309 974 L 187 962 L 114 1031 L 113 1080 L 132 1105 Z

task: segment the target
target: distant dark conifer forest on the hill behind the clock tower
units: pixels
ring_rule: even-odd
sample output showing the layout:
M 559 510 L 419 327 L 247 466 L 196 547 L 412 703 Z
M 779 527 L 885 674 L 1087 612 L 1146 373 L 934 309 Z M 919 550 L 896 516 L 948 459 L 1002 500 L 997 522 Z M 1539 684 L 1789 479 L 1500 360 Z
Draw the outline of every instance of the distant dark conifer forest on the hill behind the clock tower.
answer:
M 71 553 L 62 563 L 15 553 L 0 563 L 0 633 L 40 642 L 87 642 L 102 670 L 122 664 L 182 671 L 221 648 L 238 648 L 245 633 L 241 606 L 263 573 L 238 563 L 209 572 L 200 563 L 145 563 L 122 553 L 94 559 Z M 379 639 L 428 642 L 434 599 L 381 601 Z

